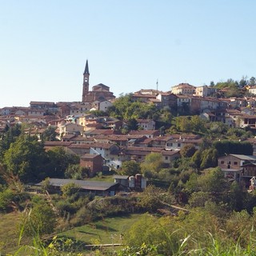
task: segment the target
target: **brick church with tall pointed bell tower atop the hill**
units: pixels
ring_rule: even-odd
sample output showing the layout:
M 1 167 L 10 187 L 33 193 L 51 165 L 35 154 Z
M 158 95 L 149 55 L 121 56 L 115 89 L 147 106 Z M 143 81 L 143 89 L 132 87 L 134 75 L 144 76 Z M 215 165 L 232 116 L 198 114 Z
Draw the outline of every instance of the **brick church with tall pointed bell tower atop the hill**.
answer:
M 92 90 L 89 90 L 89 67 L 88 60 L 86 60 L 86 68 L 83 73 L 83 83 L 82 83 L 82 102 L 104 102 L 112 100 L 115 98 L 112 92 L 110 92 L 110 87 L 105 86 L 102 83 L 97 86 L 93 86 Z

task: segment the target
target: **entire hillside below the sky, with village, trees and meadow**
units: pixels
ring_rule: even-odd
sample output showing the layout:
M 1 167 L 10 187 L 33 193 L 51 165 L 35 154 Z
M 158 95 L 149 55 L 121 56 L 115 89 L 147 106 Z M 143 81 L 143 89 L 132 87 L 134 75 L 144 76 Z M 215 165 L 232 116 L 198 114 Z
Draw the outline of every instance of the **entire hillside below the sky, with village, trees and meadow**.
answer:
M 0 109 L 0 254 L 254 255 L 255 206 L 255 78 Z

